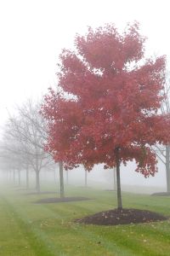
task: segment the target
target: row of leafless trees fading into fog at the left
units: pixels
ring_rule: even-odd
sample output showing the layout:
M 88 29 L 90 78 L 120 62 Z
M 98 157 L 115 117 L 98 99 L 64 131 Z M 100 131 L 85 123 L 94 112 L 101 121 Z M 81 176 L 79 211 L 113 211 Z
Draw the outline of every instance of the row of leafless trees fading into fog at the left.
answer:
M 56 164 L 44 151 L 47 140 L 46 122 L 39 113 L 40 104 L 27 101 L 17 107 L 16 116 L 9 116 L 1 142 L 1 164 L 6 170 L 26 170 L 26 188 L 29 188 L 29 171 L 36 173 L 36 189 L 40 192 L 40 172 L 54 170 Z

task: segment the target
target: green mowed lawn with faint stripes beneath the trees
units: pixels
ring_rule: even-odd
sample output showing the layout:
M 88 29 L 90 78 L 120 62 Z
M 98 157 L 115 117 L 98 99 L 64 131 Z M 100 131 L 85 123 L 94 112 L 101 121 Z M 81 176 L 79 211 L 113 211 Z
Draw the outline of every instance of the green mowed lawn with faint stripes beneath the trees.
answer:
M 88 201 L 36 204 L 42 198 L 17 188 L 0 189 L 0 255 L 170 255 L 170 220 L 150 224 L 96 226 L 74 219 L 116 207 L 116 193 L 67 187 L 66 195 Z M 123 193 L 124 207 L 170 216 L 170 197 Z

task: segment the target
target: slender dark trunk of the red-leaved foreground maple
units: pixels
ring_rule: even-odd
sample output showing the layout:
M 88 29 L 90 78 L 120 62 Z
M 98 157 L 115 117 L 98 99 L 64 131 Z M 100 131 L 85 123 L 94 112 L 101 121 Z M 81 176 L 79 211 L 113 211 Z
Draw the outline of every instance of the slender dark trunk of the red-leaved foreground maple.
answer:
M 116 187 L 117 187 L 117 209 L 122 210 L 121 177 L 120 177 L 120 148 L 115 149 L 116 154 Z

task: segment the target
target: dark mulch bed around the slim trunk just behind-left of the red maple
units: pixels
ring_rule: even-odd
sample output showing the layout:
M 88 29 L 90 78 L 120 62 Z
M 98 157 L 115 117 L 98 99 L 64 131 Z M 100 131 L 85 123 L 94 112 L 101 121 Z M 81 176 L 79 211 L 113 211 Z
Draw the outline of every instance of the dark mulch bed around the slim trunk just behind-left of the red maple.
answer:
M 35 203 L 37 204 L 42 204 L 42 203 L 59 203 L 59 202 L 66 202 L 66 201 L 85 201 L 85 200 L 90 200 L 90 198 L 87 197 L 81 197 L 81 196 L 77 196 L 77 197 L 64 197 L 64 198 L 43 198 L 40 199 L 38 201 L 36 201 Z

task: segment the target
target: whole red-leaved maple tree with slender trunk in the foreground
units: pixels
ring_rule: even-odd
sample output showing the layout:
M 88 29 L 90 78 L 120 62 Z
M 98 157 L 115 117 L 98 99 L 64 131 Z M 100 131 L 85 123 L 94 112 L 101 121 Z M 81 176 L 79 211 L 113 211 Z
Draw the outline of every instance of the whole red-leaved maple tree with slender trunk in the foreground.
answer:
M 144 59 L 139 24 L 122 34 L 114 25 L 77 35 L 76 49 L 63 49 L 59 88 L 42 106 L 48 119 L 46 149 L 71 169 L 82 164 L 116 166 L 118 209 L 122 209 L 120 163 L 135 160 L 144 177 L 157 172 L 150 146 L 170 143 L 170 119 L 158 113 L 165 82 L 165 56 Z

